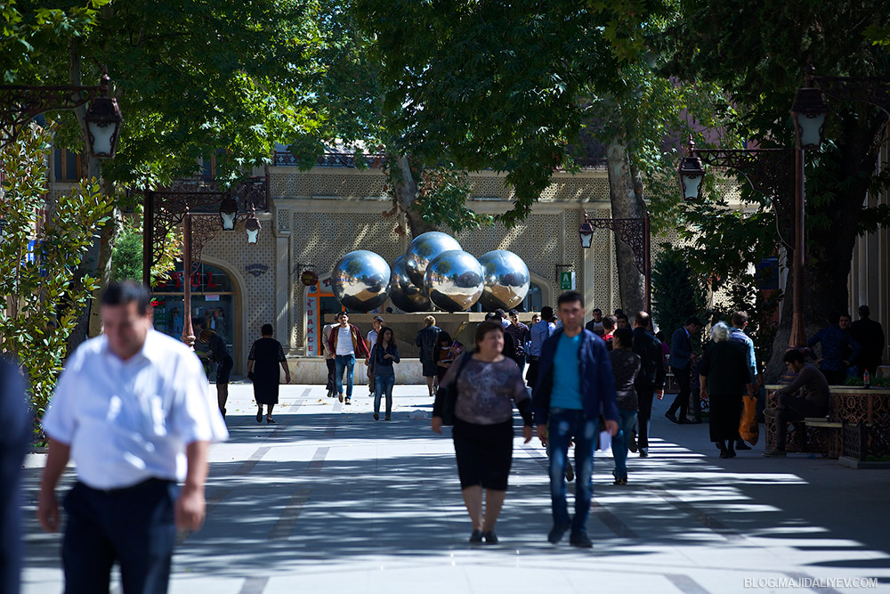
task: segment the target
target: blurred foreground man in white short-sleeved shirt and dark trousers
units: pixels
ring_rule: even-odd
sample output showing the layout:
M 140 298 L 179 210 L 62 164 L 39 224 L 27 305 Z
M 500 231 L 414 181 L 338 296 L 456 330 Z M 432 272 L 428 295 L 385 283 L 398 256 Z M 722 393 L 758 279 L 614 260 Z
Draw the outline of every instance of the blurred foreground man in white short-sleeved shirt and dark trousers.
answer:
M 44 415 L 37 519 L 59 530 L 55 487 L 74 460 L 65 591 L 107 592 L 117 561 L 125 592 L 166 592 L 176 530 L 204 522 L 207 452 L 228 433 L 198 357 L 152 330 L 148 290 L 114 283 L 101 304 L 104 336 L 71 355 Z

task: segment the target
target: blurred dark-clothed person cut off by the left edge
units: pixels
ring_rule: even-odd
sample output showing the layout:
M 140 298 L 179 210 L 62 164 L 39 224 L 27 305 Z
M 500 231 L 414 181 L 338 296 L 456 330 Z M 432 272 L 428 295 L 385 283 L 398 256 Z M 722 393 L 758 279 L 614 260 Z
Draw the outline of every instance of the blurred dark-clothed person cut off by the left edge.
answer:
M 18 594 L 21 571 L 21 461 L 30 415 L 19 370 L 0 359 L 0 592 Z

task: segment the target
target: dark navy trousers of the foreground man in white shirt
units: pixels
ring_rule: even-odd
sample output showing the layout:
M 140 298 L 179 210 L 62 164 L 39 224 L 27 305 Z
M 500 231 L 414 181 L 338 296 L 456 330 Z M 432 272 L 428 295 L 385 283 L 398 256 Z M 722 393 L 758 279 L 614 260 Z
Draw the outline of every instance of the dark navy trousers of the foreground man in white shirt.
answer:
M 174 482 L 158 479 L 109 492 L 75 484 L 64 503 L 65 593 L 108 592 L 117 561 L 124 594 L 166 594 L 178 492 Z

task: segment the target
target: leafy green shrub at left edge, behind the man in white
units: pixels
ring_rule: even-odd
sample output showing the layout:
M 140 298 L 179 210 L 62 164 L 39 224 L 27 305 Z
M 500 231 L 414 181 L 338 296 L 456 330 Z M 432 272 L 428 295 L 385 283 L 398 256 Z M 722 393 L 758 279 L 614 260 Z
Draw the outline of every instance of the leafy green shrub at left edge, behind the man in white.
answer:
M 100 227 L 109 199 L 93 180 L 47 205 L 50 134 L 32 126 L 0 151 L 6 173 L 0 216 L 0 339 L 29 380 L 29 395 L 43 415 L 66 356 L 66 340 L 95 279 L 77 269 Z

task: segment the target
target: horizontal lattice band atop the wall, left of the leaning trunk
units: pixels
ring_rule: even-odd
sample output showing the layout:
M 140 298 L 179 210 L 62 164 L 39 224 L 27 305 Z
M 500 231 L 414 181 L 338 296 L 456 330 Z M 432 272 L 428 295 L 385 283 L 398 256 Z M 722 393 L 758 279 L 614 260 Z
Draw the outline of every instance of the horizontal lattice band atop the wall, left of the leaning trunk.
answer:
M 312 198 L 339 196 L 343 199 L 362 199 L 382 196 L 385 177 L 378 171 L 348 175 L 287 173 L 270 176 L 272 198 Z

